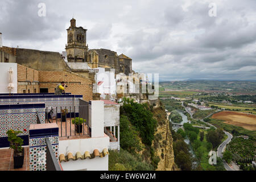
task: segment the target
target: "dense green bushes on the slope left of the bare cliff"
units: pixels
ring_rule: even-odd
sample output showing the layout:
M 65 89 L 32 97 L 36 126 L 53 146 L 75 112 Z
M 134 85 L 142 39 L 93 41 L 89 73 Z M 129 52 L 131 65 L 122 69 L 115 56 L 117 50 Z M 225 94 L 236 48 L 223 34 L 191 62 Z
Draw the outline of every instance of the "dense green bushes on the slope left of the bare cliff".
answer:
M 155 170 L 159 156 L 155 156 L 152 140 L 155 139 L 157 121 L 152 107 L 123 98 L 120 107 L 120 146 L 118 152 L 110 151 L 109 170 Z M 142 154 L 139 151 L 145 149 Z M 113 154 L 113 155 L 112 155 Z

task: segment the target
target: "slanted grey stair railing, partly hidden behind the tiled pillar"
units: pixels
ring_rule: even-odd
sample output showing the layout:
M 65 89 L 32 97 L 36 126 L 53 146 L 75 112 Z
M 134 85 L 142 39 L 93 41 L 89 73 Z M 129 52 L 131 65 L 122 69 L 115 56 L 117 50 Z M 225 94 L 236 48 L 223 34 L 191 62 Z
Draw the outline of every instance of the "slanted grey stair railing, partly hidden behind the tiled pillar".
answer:
M 36 123 L 43 124 L 38 111 L 36 111 Z M 59 161 L 56 159 L 55 152 L 52 149 L 52 144 L 49 138 L 46 138 L 46 170 L 47 171 L 61 171 Z

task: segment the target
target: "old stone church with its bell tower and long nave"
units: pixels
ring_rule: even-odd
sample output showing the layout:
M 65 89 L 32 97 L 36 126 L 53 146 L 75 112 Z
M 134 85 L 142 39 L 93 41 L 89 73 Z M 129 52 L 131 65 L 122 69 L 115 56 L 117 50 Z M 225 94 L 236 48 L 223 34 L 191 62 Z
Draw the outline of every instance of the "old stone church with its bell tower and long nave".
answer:
M 88 49 L 86 46 L 86 29 L 76 27 L 76 20 L 70 20 L 71 25 L 67 29 L 68 44 L 65 49 L 68 62 L 85 62 L 90 68 L 112 68 L 115 74 L 132 73 L 132 60 L 123 54 L 109 49 Z

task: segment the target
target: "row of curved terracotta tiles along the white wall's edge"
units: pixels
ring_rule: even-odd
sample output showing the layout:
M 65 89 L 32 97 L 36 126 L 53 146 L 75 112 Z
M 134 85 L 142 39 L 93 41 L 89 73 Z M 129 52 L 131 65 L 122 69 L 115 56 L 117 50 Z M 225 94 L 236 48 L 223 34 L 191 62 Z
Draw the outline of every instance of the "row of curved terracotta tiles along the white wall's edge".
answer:
M 63 161 L 67 162 L 69 160 L 77 160 L 77 159 L 84 160 L 87 158 L 93 159 L 93 158 L 96 158 L 97 156 L 99 156 L 100 158 L 104 158 L 106 155 L 109 155 L 108 148 L 104 148 L 102 152 L 95 149 L 92 154 L 90 154 L 89 151 L 85 151 L 83 155 L 81 155 L 80 151 L 77 151 L 75 156 L 73 156 L 72 152 L 68 152 L 67 156 L 65 156 L 64 154 L 60 154 L 59 161 L 61 163 Z

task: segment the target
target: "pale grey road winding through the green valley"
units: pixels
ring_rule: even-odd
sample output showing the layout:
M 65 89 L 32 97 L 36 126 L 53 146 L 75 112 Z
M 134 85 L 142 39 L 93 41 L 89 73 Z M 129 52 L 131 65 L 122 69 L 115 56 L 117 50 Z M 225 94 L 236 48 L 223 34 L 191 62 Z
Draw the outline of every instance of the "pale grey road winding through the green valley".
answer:
M 183 102 L 182 102 L 182 106 L 185 107 L 185 106 L 183 105 Z M 189 112 L 189 110 L 187 109 L 187 107 L 185 107 L 185 110 L 187 111 L 187 113 L 189 113 L 189 114 L 191 115 L 191 118 L 193 118 L 193 117 L 192 117 L 192 113 Z M 217 110 L 217 111 L 214 112 L 214 113 L 217 113 L 218 111 L 221 111 L 221 110 Z M 214 114 L 214 113 L 213 113 L 213 114 Z M 207 117 L 205 117 L 205 118 L 208 118 L 210 115 L 212 115 L 212 114 L 209 114 L 209 115 L 208 115 Z M 204 119 L 205 119 L 205 118 L 200 119 L 200 121 L 204 122 Z M 213 125 L 210 124 L 210 123 L 207 123 L 207 122 L 204 122 L 204 123 L 206 123 L 206 124 L 208 124 L 208 125 L 214 127 L 214 129 L 217 129 L 216 126 L 213 126 Z M 224 142 L 222 142 L 222 143 L 220 144 L 220 146 L 218 146 L 218 148 L 217 148 L 217 156 L 218 156 L 219 158 L 221 158 L 221 159 L 222 159 L 222 157 L 223 157 L 222 152 L 224 152 L 224 150 L 225 150 L 225 148 L 226 148 L 226 145 L 227 145 L 227 144 L 232 140 L 232 138 L 233 138 L 233 135 L 230 134 L 230 133 L 228 133 L 228 131 L 224 131 L 224 133 L 225 133 L 226 135 L 228 135 L 228 138 L 227 138 Z M 230 166 L 226 163 L 225 160 L 222 160 L 222 161 L 223 161 L 223 164 L 224 164 L 224 167 L 225 167 L 226 171 L 238 171 L 238 169 L 230 167 Z

